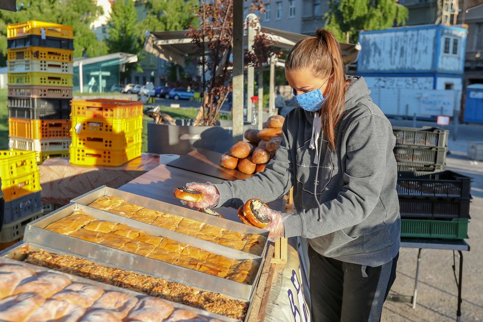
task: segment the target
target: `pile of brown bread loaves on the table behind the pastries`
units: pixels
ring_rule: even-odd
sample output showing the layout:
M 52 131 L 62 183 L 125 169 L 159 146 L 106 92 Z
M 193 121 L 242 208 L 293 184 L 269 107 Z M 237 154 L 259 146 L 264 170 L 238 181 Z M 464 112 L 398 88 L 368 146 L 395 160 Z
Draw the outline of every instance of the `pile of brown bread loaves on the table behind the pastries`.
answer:
M 235 143 L 221 156 L 221 166 L 251 174 L 262 172 L 282 142 L 282 124 L 285 118 L 271 116 L 261 130 L 249 129 L 244 133 L 248 140 Z

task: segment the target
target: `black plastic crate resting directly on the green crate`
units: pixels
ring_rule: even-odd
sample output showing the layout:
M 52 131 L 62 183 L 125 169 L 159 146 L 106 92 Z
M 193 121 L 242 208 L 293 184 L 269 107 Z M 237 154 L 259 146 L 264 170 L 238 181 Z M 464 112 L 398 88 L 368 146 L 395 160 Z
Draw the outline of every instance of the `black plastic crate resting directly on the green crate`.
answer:
M 401 218 L 470 218 L 470 198 L 399 198 Z

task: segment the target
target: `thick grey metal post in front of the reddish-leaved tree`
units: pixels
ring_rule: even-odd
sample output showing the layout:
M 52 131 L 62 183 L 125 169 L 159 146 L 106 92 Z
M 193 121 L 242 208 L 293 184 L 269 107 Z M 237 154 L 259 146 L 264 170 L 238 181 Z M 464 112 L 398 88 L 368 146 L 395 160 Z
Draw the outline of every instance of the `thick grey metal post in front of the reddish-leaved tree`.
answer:
M 233 0 L 233 139 L 243 140 L 243 0 Z

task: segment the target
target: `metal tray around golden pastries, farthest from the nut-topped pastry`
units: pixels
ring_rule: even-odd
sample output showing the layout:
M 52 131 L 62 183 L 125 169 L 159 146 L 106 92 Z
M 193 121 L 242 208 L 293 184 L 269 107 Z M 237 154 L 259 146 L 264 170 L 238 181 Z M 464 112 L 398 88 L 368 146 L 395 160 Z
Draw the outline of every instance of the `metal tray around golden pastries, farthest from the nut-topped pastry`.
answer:
M 96 199 L 104 196 L 119 197 L 126 202 L 134 203 L 138 206 L 145 207 L 147 209 L 158 210 L 158 211 L 163 211 L 163 212 L 183 216 L 186 218 L 197 220 L 202 223 L 218 226 L 228 230 L 233 230 L 243 234 L 261 235 L 261 236 L 264 236 L 266 239 L 268 239 L 269 232 L 265 229 L 251 227 L 233 220 L 219 218 L 216 216 L 208 215 L 200 211 L 195 211 L 195 210 L 177 206 L 171 203 L 154 200 L 151 198 L 146 198 L 143 196 L 131 194 L 122 190 L 113 189 L 106 186 L 101 186 L 71 201 L 84 204 L 84 205 L 89 205 L 90 203 L 94 202 Z M 265 253 L 265 248 L 267 247 L 267 244 L 268 244 L 268 241 L 265 242 L 264 251 L 262 252 L 262 254 Z

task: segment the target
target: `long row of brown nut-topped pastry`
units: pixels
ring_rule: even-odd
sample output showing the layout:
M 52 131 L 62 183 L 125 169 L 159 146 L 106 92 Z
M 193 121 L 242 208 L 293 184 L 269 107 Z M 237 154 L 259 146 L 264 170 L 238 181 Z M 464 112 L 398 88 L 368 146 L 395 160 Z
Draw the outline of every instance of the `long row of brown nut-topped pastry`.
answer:
M 243 319 L 247 311 L 245 302 L 230 299 L 219 293 L 201 291 L 192 286 L 167 282 L 161 278 L 120 268 L 101 266 L 76 256 L 54 254 L 43 250 L 31 251 L 25 262 L 186 304 L 234 319 Z

